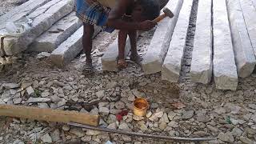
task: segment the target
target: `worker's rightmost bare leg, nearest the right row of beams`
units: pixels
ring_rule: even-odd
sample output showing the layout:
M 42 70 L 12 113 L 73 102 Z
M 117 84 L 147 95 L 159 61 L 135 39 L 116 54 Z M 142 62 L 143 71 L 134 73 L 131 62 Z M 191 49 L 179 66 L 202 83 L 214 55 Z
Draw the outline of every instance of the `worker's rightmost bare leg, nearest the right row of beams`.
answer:
M 138 55 L 137 51 L 137 31 L 129 31 L 130 38 L 130 60 L 140 64 L 142 58 Z

